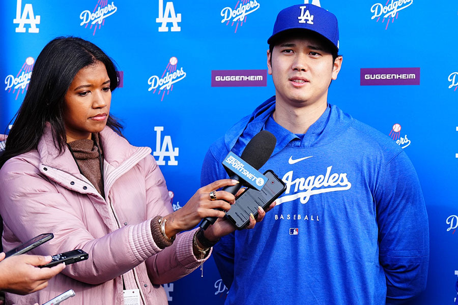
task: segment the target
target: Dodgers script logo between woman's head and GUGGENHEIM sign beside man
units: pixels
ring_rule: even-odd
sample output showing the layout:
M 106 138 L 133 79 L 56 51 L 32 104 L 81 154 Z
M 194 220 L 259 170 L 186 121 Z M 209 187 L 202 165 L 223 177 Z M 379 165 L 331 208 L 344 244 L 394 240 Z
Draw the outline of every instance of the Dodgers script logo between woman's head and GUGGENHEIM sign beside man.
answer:
M 177 57 L 170 57 L 161 77 L 153 75 L 148 79 L 148 84 L 150 85 L 148 91 L 154 89 L 153 93 L 156 93 L 156 90 L 159 88 L 157 94 L 160 95 L 162 92 L 161 101 L 164 99 L 165 89 L 167 90 L 168 95 L 168 93 L 174 89 L 174 83 L 177 83 L 186 77 L 186 72 L 183 71 L 183 67 L 178 70 L 177 64 Z

